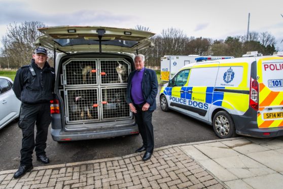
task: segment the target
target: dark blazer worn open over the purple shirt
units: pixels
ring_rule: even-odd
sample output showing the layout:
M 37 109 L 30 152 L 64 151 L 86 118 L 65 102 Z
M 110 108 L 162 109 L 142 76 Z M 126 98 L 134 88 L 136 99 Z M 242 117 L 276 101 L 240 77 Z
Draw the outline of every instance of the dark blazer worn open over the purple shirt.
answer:
M 132 78 L 136 70 L 131 72 L 128 78 L 127 87 L 127 103 L 133 103 L 131 98 L 131 83 Z M 144 99 L 150 104 L 149 110 L 153 111 L 156 109 L 156 96 L 158 92 L 158 81 L 154 70 L 145 68 L 143 81 L 141 81 L 141 86 L 143 87 Z

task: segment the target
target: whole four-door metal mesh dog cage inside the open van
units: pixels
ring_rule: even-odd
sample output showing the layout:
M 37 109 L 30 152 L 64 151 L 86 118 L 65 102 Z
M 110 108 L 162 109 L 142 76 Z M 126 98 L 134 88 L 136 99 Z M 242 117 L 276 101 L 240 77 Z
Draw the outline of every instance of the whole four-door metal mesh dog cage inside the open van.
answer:
M 70 58 L 62 84 L 67 124 L 130 119 L 126 102 L 130 63 L 122 58 Z

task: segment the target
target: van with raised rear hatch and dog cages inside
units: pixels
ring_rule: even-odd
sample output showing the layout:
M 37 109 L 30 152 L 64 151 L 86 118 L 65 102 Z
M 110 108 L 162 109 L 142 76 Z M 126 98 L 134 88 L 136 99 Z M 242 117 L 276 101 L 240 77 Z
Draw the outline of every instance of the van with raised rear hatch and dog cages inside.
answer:
M 54 50 L 56 83 L 51 101 L 55 141 L 138 133 L 126 103 L 134 54 L 154 47 L 153 33 L 101 26 L 39 28 L 36 45 Z

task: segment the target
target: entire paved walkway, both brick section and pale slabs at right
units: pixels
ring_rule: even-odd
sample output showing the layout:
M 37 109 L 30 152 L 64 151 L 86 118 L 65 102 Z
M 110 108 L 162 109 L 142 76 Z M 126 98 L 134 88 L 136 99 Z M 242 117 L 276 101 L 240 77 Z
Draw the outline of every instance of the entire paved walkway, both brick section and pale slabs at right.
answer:
M 232 138 L 112 159 L 34 168 L 19 179 L 0 172 L 0 188 L 283 188 L 283 141 Z

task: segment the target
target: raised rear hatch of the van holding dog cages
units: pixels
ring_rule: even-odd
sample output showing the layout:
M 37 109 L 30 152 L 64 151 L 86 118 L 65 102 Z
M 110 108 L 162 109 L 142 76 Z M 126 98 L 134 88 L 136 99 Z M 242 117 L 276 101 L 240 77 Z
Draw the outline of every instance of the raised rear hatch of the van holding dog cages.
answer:
M 154 47 L 154 43 L 149 38 L 155 34 L 136 29 L 56 26 L 39 28 L 39 31 L 44 35 L 36 40 L 36 44 L 58 52 L 99 51 L 101 47 L 102 52 L 134 53 L 137 50 Z

